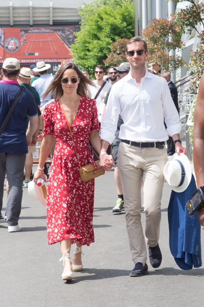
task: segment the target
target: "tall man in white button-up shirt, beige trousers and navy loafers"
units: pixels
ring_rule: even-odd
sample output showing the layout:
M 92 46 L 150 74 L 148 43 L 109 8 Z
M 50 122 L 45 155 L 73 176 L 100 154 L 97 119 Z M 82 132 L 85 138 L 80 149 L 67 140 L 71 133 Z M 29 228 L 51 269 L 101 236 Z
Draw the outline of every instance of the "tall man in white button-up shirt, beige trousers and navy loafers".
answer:
M 175 142 L 178 155 L 180 150 L 185 154 L 187 150 L 181 145 L 181 124 L 167 82 L 145 68 L 145 59 L 148 56 L 146 42 L 139 36 L 132 37 L 127 42 L 125 51 L 130 72 L 111 88 L 101 129 L 100 162 L 105 166 L 106 160 L 111 163 L 113 161 L 106 150 L 115 138 L 120 114 L 124 123 L 120 126 L 119 133 L 121 142 L 118 167 L 123 187 L 127 233 L 135 264 L 130 276 L 142 276 L 148 272 L 146 243 L 150 264 L 157 268 L 162 261 L 158 241 L 163 168 L 167 162 L 164 141 L 168 139 L 168 134 Z M 141 179 L 146 214 L 145 237 L 140 215 Z

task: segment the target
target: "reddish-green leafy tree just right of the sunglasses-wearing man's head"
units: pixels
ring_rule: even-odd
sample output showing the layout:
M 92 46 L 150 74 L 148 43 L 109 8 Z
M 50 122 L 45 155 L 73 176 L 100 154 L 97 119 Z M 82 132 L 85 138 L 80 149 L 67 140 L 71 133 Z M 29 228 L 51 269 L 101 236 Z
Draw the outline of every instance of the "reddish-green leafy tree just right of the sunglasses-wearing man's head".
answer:
M 160 64 L 161 70 L 172 71 L 182 67 L 182 57 L 169 55 L 172 49 L 183 49 L 182 32 L 183 28 L 180 29 L 174 20 L 154 18 L 143 30 L 143 38 L 150 53 L 149 61 Z

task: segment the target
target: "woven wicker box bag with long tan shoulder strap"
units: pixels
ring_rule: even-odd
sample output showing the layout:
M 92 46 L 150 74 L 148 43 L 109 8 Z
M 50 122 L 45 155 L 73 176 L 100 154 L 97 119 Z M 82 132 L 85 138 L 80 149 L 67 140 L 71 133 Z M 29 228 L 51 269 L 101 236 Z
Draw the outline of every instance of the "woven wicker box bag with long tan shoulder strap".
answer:
M 72 137 L 72 141 L 73 141 L 73 143 L 74 143 L 74 138 L 73 138 L 73 136 L 72 136 L 70 124 L 69 124 L 69 121 L 68 121 L 68 119 L 67 119 L 67 117 L 66 117 L 65 111 L 64 111 L 64 109 L 63 109 L 63 107 L 62 107 L 62 103 L 61 103 L 60 100 L 59 100 L 59 103 L 60 103 L 60 105 L 61 105 L 62 111 L 63 111 L 64 116 L 65 116 L 65 118 L 66 118 L 66 122 L 67 122 L 68 127 L 69 127 L 69 130 L 70 130 L 70 134 L 71 134 L 71 137 Z M 105 173 L 103 167 L 99 165 L 100 160 L 95 161 L 95 163 L 96 163 L 96 165 L 97 165 L 97 167 L 98 167 L 98 168 L 97 168 L 97 171 L 95 170 L 95 167 L 93 166 L 92 163 L 89 163 L 89 164 L 84 165 L 84 166 L 81 167 L 81 164 L 80 164 L 80 162 L 79 162 L 79 158 L 78 158 L 78 154 L 77 154 L 77 149 L 76 149 L 75 143 L 74 143 L 74 149 L 75 149 L 75 152 L 76 152 L 76 155 L 77 155 L 77 160 L 78 160 L 78 163 L 79 163 L 79 175 L 80 175 L 80 177 L 81 177 L 81 181 L 87 182 L 87 181 L 89 181 L 89 180 L 91 180 L 91 179 L 94 179 L 94 178 L 96 178 L 96 177 L 99 177 L 100 175 L 103 175 L 103 174 Z M 93 149 L 93 147 L 92 147 L 92 149 Z M 95 151 L 94 149 L 93 149 L 93 151 L 95 152 L 96 157 L 99 159 L 99 156 L 98 156 L 98 154 L 96 153 L 96 151 Z

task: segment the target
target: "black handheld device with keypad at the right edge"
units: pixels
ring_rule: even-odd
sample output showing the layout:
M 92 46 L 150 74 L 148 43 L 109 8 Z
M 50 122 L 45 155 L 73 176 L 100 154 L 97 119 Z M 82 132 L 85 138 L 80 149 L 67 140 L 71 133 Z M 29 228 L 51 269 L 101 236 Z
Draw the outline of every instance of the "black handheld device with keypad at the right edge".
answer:
M 204 204 L 204 186 L 198 188 L 186 203 L 187 211 L 194 215 Z

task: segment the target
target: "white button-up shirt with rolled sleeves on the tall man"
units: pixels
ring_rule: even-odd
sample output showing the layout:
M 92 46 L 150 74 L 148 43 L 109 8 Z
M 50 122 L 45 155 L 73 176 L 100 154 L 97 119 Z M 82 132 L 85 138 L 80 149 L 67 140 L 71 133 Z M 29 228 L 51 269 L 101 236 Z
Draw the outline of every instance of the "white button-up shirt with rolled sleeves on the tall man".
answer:
M 124 122 L 120 126 L 120 139 L 162 142 L 168 140 L 168 134 L 172 136 L 181 130 L 166 80 L 147 70 L 140 86 L 130 72 L 112 85 L 100 130 L 101 139 L 110 144 L 115 138 L 119 114 Z

